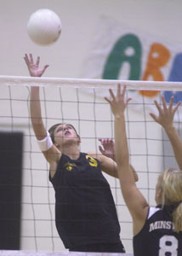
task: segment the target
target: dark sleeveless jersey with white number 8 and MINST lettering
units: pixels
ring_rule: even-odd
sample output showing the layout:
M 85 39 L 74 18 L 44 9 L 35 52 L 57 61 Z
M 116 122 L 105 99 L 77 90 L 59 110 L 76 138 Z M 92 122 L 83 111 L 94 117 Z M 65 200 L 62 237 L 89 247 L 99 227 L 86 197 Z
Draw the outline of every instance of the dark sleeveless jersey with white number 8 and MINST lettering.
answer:
M 182 232 L 173 231 L 167 207 L 150 207 L 143 229 L 134 236 L 134 256 L 182 256 Z

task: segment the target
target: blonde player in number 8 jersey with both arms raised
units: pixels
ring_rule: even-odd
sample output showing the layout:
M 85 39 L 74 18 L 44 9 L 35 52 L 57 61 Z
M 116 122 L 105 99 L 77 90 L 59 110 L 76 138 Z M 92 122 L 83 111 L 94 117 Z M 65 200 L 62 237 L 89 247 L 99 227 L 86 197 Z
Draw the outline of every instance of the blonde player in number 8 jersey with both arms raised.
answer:
M 126 136 L 124 112 L 130 98 L 125 98 L 126 86 L 117 96 L 110 90 L 110 103 L 115 116 L 115 145 L 117 171 L 120 177 L 123 198 L 133 218 L 134 256 L 181 256 L 182 255 L 182 143 L 173 127 L 173 115 L 179 104 L 173 107 L 173 97 L 167 107 L 162 96 L 162 108 L 155 101 L 159 115 L 151 117 L 168 134 L 173 152 L 179 164 L 179 170 L 168 169 L 162 172 L 156 183 L 157 207 L 149 207 L 145 197 L 134 183 L 134 176 L 129 167 L 128 141 Z

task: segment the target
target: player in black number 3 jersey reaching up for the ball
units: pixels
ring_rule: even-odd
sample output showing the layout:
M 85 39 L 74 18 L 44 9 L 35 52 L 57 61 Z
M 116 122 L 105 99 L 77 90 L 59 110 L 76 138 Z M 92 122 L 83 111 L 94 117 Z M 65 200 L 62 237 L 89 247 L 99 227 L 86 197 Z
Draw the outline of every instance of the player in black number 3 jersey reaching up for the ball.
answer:
M 35 63 L 32 55 L 24 59 L 33 77 L 42 76 L 48 67 L 39 67 L 39 57 Z M 56 228 L 65 247 L 81 252 L 125 252 L 110 185 L 101 172 L 118 177 L 117 164 L 103 154 L 81 153 L 81 138 L 70 124 L 56 124 L 46 131 L 36 86 L 31 87 L 30 107 L 33 130 L 49 163 Z M 135 172 L 134 178 L 138 179 Z

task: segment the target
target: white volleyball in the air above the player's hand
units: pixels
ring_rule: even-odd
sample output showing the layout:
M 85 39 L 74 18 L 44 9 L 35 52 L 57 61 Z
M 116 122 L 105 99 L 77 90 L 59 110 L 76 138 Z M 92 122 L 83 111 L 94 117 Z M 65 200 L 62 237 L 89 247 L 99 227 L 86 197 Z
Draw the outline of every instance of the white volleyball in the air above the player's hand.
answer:
M 51 9 L 38 9 L 27 22 L 27 32 L 36 44 L 53 44 L 60 37 L 60 17 Z

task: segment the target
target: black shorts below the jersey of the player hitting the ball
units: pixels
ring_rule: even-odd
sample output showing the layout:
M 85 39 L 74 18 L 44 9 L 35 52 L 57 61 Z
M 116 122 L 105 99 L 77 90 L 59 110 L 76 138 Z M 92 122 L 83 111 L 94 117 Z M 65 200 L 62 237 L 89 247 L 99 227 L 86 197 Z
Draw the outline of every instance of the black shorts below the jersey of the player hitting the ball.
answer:
M 122 242 L 117 243 L 94 243 L 69 248 L 70 252 L 90 253 L 126 253 Z

